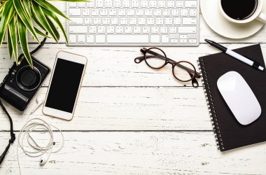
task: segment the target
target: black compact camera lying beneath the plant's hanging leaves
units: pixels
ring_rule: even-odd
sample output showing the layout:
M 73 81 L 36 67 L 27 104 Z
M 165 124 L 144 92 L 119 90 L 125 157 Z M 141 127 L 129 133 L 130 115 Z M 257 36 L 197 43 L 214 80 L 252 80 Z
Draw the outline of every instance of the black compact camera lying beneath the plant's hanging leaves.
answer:
M 18 66 L 14 62 L 0 85 L 0 97 L 20 111 L 25 111 L 50 72 L 48 66 L 31 56 L 32 69 L 23 57 Z

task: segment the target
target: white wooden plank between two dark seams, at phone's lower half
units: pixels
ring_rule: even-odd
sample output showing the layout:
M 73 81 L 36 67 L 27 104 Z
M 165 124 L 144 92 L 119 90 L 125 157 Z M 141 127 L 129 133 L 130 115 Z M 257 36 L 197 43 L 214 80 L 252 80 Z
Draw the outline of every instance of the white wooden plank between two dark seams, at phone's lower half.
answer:
M 45 97 L 47 88 L 38 96 Z M 36 105 L 25 113 L 7 106 L 20 130 Z M 61 130 L 212 130 L 202 87 L 82 87 L 71 122 L 43 116 L 39 108 L 30 118 L 57 123 Z M 1 130 L 9 130 L 0 110 Z

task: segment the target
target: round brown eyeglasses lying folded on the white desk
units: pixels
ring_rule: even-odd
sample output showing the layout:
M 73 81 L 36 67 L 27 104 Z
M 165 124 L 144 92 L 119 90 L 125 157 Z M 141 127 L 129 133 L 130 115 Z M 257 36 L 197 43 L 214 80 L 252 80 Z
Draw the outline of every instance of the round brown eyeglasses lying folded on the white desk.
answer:
M 160 50 L 165 56 L 160 55 L 160 54 L 158 54 L 158 53 L 156 53 L 156 52 L 153 52 L 152 49 L 158 49 L 158 50 Z M 179 81 L 181 81 L 181 82 L 184 82 L 184 83 L 189 82 L 189 81 L 191 80 L 191 81 L 192 81 L 192 85 L 193 85 L 193 87 L 199 87 L 199 83 L 197 82 L 197 79 L 196 79 L 196 78 L 201 78 L 201 75 L 200 75 L 200 73 L 198 73 L 198 72 L 196 71 L 196 68 L 195 68 L 195 66 L 194 66 L 192 63 L 190 63 L 190 62 L 188 62 L 188 61 L 180 61 L 180 62 L 176 62 L 176 61 L 174 61 L 173 59 L 170 59 L 169 57 L 167 57 L 167 55 L 165 54 L 165 52 L 164 52 L 162 49 L 160 49 L 160 48 L 156 48 L 156 47 L 148 48 L 148 49 L 147 49 L 147 48 L 141 48 L 141 52 L 144 54 L 144 56 L 136 57 L 136 58 L 134 59 L 134 62 L 135 62 L 135 63 L 139 64 L 139 63 L 141 63 L 142 61 L 145 60 L 146 64 L 147 64 L 149 67 L 151 67 L 152 69 L 162 69 L 162 67 L 166 66 L 167 64 L 172 64 L 172 73 L 173 73 L 173 75 L 174 75 L 174 78 L 176 78 L 177 80 L 179 80 Z M 151 66 L 150 64 L 148 64 L 148 62 L 147 62 L 147 60 L 146 60 L 146 58 L 148 57 L 148 56 L 146 55 L 147 52 L 148 52 L 148 53 L 151 53 L 152 55 L 155 55 L 155 56 L 158 56 L 158 57 L 162 57 L 163 59 L 165 59 L 165 64 L 162 64 L 162 66 L 160 66 L 160 67 L 153 67 L 153 66 Z M 152 55 L 151 55 L 150 57 L 153 57 Z M 190 64 L 191 66 L 193 66 L 193 69 L 194 69 L 194 70 L 188 68 L 187 66 L 183 66 L 183 65 L 181 65 L 181 64 L 180 64 L 181 62 L 186 62 L 186 63 Z M 177 78 L 176 75 L 175 75 L 175 73 L 174 73 L 174 67 L 175 67 L 175 66 L 179 66 L 179 67 L 181 67 L 181 69 L 185 69 L 185 70 L 189 73 L 189 75 L 190 75 L 190 80 L 181 80 L 181 79 Z

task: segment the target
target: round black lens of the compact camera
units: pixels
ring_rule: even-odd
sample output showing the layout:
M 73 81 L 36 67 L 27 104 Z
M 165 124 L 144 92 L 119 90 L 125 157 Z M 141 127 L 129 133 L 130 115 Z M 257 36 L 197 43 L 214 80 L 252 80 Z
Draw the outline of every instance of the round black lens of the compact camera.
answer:
M 41 73 L 36 67 L 24 66 L 18 71 L 16 80 L 22 90 L 35 90 L 41 83 Z

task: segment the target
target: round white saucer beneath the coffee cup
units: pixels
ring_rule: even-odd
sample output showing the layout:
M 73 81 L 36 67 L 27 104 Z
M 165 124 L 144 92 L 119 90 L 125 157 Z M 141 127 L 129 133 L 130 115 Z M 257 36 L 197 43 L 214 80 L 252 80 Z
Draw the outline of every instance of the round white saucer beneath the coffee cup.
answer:
M 234 0 L 232 0 L 234 1 Z M 263 11 L 266 12 L 266 1 L 263 3 Z M 201 0 L 200 8 L 204 20 L 216 33 L 227 38 L 246 38 L 258 32 L 264 23 L 254 20 L 246 24 L 235 24 L 226 20 L 218 6 L 218 0 Z

